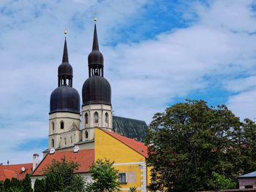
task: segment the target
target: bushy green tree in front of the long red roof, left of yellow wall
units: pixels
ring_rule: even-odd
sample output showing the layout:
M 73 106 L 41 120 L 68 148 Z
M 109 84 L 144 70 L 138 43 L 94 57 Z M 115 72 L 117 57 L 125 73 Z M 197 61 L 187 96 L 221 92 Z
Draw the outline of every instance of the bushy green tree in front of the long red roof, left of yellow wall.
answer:
M 80 174 L 74 174 L 79 164 L 74 161 L 67 162 L 53 160 L 45 169 L 45 188 L 50 191 L 84 191 L 85 183 Z

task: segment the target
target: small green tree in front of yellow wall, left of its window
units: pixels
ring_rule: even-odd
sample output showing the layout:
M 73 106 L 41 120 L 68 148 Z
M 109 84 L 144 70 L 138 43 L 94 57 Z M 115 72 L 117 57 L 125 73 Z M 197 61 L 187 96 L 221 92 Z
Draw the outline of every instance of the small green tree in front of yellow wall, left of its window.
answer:
M 90 169 L 94 183 L 87 183 L 86 191 L 103 192 L 119 191 L 118 171 L 113 168 L 110 160 L 97 160 Z

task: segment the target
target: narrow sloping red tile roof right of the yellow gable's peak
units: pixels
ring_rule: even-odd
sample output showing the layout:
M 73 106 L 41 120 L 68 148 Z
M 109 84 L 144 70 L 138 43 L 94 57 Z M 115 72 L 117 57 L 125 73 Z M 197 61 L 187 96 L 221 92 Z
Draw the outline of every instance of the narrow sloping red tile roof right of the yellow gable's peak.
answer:
M 128 147 L 132 148 L 133 150 L 137 151 L 144 157 L 148 157 L 148 147 L 143 142 L 135 141 L 135 139 L 129 139 L 128 137 L 121 136 L 120 134 L 116 134 L 111 131 L 106 131 L 104 129 L 101 129 L 102 131 L 105 131 L 110 136 L 118 139 L 120 142 L 124 143 L 124 145 L 127 145 Z

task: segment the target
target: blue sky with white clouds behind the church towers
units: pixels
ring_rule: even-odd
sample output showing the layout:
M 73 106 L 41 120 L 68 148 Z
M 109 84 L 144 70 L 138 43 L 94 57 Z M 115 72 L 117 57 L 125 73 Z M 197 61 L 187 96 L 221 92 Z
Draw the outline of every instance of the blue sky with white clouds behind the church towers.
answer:
M 115 115 L 146 120 L 185 99 L 256 117 L 256 1 L 0 1 L 0 163 L 48 147 L 67 27 L 73 87 L 88 77 L 97 15 Z

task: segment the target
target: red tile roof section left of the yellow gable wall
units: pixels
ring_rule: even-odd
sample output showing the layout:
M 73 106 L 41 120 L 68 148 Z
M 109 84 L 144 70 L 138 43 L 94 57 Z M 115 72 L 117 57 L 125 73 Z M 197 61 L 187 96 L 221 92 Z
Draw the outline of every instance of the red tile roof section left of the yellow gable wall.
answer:
M 37 169 L 34 170 L 32 176 L 43 175 L 44 170 L 51 164 L 53 159 L 61 161 L 61 158 L 80 164 L 77 171 L 78 173 L 89 172 L 90 166 L 94 164 L 94 150 L 79 150 L 77 153 L 73 151 L 56 151 L 53 154 L 48 153 L 37 166 Z

